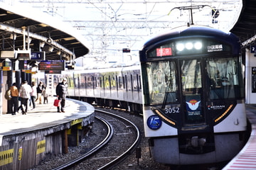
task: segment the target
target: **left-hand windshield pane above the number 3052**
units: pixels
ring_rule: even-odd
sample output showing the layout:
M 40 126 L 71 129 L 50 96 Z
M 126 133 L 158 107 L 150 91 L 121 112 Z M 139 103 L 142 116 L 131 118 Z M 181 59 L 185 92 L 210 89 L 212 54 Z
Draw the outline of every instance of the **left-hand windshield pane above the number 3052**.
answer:
M 176 102 L 176 64 L 174 62 L 150 62 L 146 65 L 149 81 L 149 103 Z

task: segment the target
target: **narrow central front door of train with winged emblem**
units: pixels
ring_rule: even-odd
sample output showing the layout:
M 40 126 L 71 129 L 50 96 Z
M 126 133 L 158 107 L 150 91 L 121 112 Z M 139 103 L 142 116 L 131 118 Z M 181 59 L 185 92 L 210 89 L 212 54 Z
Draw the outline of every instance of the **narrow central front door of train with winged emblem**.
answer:
M 181 79 L 181 132 L 206 125 L 203 103 L 203 79 L 201 59 L 179 60 Z

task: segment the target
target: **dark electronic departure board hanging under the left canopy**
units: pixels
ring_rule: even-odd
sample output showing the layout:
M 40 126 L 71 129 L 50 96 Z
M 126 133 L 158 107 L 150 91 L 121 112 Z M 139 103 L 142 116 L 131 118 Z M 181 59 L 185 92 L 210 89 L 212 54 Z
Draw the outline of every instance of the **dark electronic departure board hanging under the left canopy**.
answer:
M 65 70 L 65 61 L 44 60 L 38 64 L 38 70 Z

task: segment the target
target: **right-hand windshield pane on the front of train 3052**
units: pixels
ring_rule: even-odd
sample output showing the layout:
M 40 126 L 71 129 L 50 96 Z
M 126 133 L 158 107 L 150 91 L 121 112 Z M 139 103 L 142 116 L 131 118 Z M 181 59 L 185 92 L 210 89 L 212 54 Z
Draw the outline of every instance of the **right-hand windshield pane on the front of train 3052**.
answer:
M 210 84 L 210 99 L 240 98 L 242 75 L 238 74 L 238 58 L 211 58 L 206 60 Z

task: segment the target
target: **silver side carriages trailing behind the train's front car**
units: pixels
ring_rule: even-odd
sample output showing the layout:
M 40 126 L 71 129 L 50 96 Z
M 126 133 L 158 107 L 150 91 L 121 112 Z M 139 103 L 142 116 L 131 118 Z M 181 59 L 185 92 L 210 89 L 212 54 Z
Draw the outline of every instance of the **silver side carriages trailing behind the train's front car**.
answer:
M 46 84 L 53 96 L 55 86 L 63 77 L 68 79 L 68 97 L 70 98 L 86 101 L 92 105 L 142 113 L 139 65 L 46 74 Z

